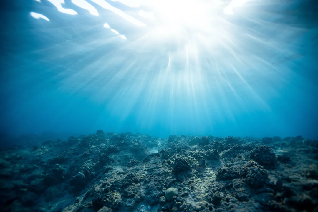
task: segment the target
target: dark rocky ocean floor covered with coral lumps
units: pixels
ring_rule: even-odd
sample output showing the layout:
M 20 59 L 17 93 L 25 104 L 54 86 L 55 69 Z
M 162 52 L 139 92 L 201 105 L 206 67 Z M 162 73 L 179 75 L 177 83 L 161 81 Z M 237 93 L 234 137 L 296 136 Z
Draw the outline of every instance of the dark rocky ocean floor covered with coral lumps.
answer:
M 104 133 L 0 151 L 14 212 L 318 211 L 318 141 Z

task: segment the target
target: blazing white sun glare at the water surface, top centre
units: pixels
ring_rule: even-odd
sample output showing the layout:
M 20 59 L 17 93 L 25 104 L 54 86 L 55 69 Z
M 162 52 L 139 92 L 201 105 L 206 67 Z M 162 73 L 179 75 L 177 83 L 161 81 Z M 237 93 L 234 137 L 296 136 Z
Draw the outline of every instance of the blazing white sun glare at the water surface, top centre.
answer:
M 229 45 L 235 43 L 235 34 L 239 29 L 226 17 L 234 14 L 233 8 L 248 1 L 142 1 L 143 10 L 138 15 L 148 18 L 151 24 L 148 24 L 148 33 L 141 39 L 141 43 L 147 43 L 145 48 L 169 44 L 170 49 L 178 49 L 181 54 L 185 46 L 192 46 L 193 51 L 199 52 L 207 47 L 213 49 L 213 52 L 217 52 L 218 48 L 230 49 Z

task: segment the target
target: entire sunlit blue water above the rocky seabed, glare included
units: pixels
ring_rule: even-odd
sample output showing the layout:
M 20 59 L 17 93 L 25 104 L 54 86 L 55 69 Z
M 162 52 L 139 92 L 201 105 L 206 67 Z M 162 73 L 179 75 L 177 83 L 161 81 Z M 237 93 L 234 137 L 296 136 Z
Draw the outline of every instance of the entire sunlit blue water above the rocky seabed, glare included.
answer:
M 314 1 L 54 2 L 3 2 L 1 133 L 318 138 Z

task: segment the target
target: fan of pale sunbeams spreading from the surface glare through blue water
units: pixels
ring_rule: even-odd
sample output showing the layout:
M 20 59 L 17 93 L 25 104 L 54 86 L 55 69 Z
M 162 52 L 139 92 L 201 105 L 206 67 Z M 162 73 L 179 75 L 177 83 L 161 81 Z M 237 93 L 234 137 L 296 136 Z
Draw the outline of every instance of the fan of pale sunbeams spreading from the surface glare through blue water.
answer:
M 120 123 L 133 116 L 141 128 L 151 129 L 160 123 L 171 133 L 178 133 L 179 129 L 223 130 L 224 126 L 240 131 L 249 126 L 240 123 L 255 122 L 251 115 L 254 113 L 261 114 L 267 123 L 275 123 L 277 128 L 283 126 L 282 119 L 272 110 L 271 100 L 280 98 L 280 91 L 295 76 L 288 66 L 290 58 L 297 62 L 302 55 L 296 52 L 299 43 L 293 43 L 296 40 L 293 36 L 304 30 L 272 23 L 281 15 L 259 10 L 259 5 L 266 3 L 257 0 L 72 0 L 72 4 L 42 0 L 41 3 L 44 1 L 73 17 L 72 21 L 83 16 L 75 6 L 89 11 L 88 19 L 101 17 L 96 20 L 102 23 L 94 26 L 102 31 L 99 36 L 87 35 L 84 37 L 89 37 L 87 42 L 83 38 L 83 43 L 78 44 L 66 35 L 65 43 L 38 53 L 53 52 L 47 56 L 52 64 L 68 63 L 60 73 L 66 76 L 59 81 L 60 90 L 105 103 L 107 115 L 116 117 Z M 118 20 L 114 22 L 108 16 L 104 20 L 105 11 Z M 134 28 L 128 31 L 127 26 Z M 72 55 L 82 58 L 67 59 Z

